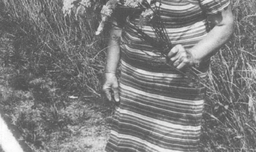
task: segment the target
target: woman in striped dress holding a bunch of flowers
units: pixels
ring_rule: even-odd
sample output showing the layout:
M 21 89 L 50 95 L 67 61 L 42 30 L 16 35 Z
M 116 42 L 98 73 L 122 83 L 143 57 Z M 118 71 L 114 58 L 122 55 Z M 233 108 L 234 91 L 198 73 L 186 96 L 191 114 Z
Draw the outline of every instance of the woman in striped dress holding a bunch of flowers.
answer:
M 169 65 L 152 63 L 152 55 L 157 54 L 135 34 L 117 28 L 111 31 L 103 90 L 109 100 L 113 91 L 120 105 L 107 152 L 198 151 L 205 88 L 191 85 L 178 70 L 196 65 L 198 76 L 206 77 L 210 57 L 233 33 L 230 1 L 161 0 L 160 11 L 174 45 L 167 55 Z M 126 20 L 126 24 L 137 22 L 137 16 Z M 142 29 L 154 35 L 149 26 Z M 116 36 L 129 43 L 118 46 Z

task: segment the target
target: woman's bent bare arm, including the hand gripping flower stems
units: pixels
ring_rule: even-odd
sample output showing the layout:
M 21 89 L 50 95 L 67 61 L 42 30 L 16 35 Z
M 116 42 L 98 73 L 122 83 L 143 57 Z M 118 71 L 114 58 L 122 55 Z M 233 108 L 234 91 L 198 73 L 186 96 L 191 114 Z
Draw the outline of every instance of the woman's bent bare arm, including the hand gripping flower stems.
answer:
M 231 5 L 222 12 L 210 15 L 209 21 L 213 29 L 205 38 L 199 41 L 191 49 L 185 49 L 182 45 L 176 45 L 168 54 L 173 66 L 181 69 L 184 66 L 192 66 L 214 55 L 225 44 L 234 31 L 234 19 Z

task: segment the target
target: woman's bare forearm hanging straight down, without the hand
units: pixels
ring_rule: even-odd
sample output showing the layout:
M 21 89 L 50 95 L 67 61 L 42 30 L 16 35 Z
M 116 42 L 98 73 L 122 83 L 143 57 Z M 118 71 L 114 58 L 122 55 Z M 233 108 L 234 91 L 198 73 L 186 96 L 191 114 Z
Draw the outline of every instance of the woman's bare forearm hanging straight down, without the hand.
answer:
M 120 60 L 120 47 L 118 38 L 121 36 L 121 30 L 113 27 L 110 32 L 110 39 L 107 48 L 107 60 L 105 72 L 115 73 Z

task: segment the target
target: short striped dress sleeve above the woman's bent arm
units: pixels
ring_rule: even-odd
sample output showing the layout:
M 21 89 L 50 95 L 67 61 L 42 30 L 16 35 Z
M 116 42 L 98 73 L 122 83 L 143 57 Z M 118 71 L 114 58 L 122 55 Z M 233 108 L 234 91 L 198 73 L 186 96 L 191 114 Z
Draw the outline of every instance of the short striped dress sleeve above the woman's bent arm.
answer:
M 198 0 L 200 7 L 206 14 L 217 14 L 224 10 L 229 4 L 230 0 Z

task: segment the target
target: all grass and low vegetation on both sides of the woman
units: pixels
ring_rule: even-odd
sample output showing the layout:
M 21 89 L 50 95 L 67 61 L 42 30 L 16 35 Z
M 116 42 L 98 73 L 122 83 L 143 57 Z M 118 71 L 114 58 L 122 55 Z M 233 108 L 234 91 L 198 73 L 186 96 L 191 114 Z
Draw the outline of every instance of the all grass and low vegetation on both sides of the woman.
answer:
M 62 6 L 62 0 L 0 0 L 1 108 L 36 151 L 59 151 L 80 134 L 74 126 L 90 123 L 102 133 L 113 109 L 100 103 L 108 33 L 95 36 L 95 12 L 64 18 Z M 212 58 L 206 84 L 205 152 L 256 151 L 256 1 L 233 0 L 232 7 L 234 36 Z M 63 151 L 93 145 L 72 142 Z

